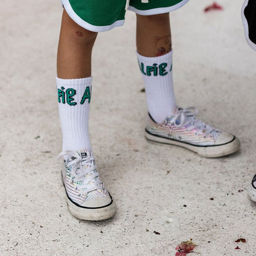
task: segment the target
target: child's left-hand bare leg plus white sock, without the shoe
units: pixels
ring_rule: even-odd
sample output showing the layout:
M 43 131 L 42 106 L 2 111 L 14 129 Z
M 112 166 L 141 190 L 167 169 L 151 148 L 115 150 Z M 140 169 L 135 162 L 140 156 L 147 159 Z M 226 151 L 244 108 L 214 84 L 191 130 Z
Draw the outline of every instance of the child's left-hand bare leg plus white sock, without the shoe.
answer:
M 57 54 L 58 106 L 63 151 L 91 147 L 88 121 L 92 85 L 91 56 L 96 37 L 97 33 L 82 28 L 63 11 Z M 74 95 L 67 98 L 72 93 Z M 84 94 L 87 98 L 82 101 Z

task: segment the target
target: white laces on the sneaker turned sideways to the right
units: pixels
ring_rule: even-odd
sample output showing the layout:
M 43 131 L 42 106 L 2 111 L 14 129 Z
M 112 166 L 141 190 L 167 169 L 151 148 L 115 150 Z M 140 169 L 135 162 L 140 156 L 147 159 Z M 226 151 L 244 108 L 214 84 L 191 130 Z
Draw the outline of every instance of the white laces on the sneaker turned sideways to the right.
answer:
M 221 130 L 215 129 L 208 124 L 205 124 L 201 121 L 201 119 L 197 119 L 196 115 L 198 114 L 198 109 L 194 108 L 194 106 L 190 106 L 189 108 L 179 108 L 178 113 L 171 119 L 171 122 L 177 127 L 183 127 L 187 124 L 190 124 L 188 130 L 193 130 L 194 128 L 198 128 L 198 132 L 202 132 L 204 137 L 211 134 L 214 139 L 218 137 Z M 177 124 L 177 121 L 179 122 Z

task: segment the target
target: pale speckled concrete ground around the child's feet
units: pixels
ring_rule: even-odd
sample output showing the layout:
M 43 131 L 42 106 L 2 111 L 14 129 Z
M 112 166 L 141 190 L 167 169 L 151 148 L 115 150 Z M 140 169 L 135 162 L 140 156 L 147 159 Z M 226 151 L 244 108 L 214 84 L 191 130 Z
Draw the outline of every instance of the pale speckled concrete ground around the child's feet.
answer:
M 256 255 L 256 52 L 247 46 L 242 0 L 190 1 L 170 14 L 178 105 L 236 134 L 241 151 L 206 159 L 146 142 L 145 94 L 135 57 L 135 15 L 99 34 L 93 56 L 90 136 L 116 215 L 85 222 L 67 210 L 55 92 L 59 1 L 2 0 L 0 15 L 0 255 Z M 156 232 L 154 232 L 156 231 Z M 158 234 L 159 233 L 159 234 Z M 245 238 L 246 243 L 236 243 Z M 235 249 L 238 246 L 240 249 Z

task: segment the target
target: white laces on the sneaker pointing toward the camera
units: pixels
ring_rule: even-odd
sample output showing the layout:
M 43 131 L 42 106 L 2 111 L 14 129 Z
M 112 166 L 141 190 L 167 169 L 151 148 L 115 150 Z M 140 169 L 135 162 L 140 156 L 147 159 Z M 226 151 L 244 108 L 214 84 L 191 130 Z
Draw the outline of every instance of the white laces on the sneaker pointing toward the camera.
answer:
M 66 165 L 67 167 L 71 167 L 70 183 L 82 183 L 82 185 L 76 186 L 76 190 L 81 191 L 79 196 L 97 189 L 102 189 L 103 182 L 100 180 L 99 174 L 96 171 L 97 166 L 94 164 L 94 156 L 82 158 L 81 154 L 77 151 L 64 151 L 58 155 L 58 158 L 63 156 L 68 156 L 68 158 L 71 159 Z

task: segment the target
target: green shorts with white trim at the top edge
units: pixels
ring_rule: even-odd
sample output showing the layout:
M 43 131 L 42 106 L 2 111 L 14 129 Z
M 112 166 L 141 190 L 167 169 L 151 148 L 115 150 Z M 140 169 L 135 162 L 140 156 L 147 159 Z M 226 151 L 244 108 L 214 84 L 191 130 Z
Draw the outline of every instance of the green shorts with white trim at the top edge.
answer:
M 124 24 L 126 10 L 140 15 L 171 12 L 188 0 L 61 0 L 70 17 L 86 30 L 100 32 Z

